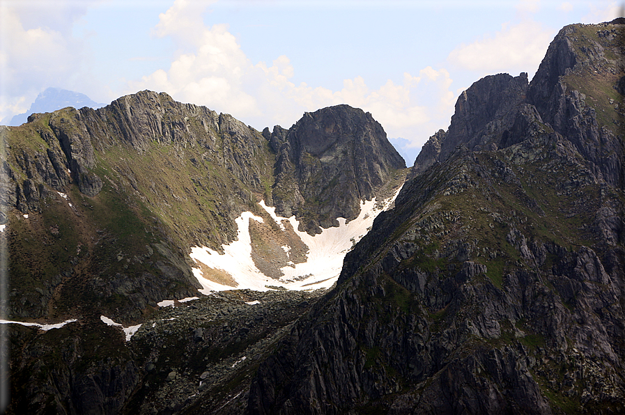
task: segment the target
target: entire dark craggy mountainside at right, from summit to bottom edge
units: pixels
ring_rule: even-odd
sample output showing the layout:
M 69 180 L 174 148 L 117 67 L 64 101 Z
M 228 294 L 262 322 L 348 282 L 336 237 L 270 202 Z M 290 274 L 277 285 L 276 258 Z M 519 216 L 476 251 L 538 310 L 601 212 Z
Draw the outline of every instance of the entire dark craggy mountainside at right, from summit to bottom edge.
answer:
M 625 410 L 624 66 L 603 58 L 622 30 L 568 26 L 529 86 L 495 75 L 458 98 L 259 367 L 250 413 Z

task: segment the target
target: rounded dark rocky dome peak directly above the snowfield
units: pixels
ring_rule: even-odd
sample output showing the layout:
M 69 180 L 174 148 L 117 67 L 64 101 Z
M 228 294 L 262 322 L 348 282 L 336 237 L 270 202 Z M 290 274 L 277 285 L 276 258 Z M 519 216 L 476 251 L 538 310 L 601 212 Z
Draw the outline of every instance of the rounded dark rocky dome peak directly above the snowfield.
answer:
M 275 128 L 270 143 L 279 157 L 277 212 L 304 217 L 313 233 L 335 226 L 337 217 L 357 217 L 360 201 L 383 196 L 378 189 L 406 167 L 371 113 L 348 105 L 304 113 L 286 134 Z

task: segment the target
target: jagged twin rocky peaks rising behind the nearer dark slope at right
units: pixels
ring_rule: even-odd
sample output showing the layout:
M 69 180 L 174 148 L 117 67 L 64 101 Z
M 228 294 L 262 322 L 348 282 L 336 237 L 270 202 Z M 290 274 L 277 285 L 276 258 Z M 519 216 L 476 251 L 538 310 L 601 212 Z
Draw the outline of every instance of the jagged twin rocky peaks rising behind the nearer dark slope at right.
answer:
M 530 84 L 525 73 L 475 82 L 458 97 L 444 136 L 437 133 L 424 145 L 411 174 L 442 162 L 458 146 L 493 150 L 518 143 L 532 131 L 557 132 L 592 162 L 599 180 L 622 183 L 623 150 L 615 139 L 622 125 L 619 102 L 625 84 L 619 22 L 564 27 Z

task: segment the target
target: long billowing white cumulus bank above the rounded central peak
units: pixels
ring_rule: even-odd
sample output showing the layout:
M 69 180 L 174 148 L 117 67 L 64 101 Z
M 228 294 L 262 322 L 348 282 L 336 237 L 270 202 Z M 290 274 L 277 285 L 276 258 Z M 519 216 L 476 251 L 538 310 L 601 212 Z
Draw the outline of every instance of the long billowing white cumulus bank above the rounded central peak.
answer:
M 427 67 L 416 76 L 406 72 L 400 83 L 388 80 L 379 88 L 371 88 L 360 76 L 345 79 L 339 91 L 296 85 L 291 81 L 295 68 L 287 56 L 278 56 L 270 64 L 252 63 L 227 25 L 203 24 L 206 7 L 197 4 L 176 0 L 160 14 L 153 35 L 170 36 L 178 52 L 169 68 L 129 82 L 128 93 L 165 91 L 176 100 L 231 113 L 259 129 L 276 124 L 288 128 L 304 111 L 349 104 L 371 112 L 388 136 L 401 136 L 415 146 L 449 123 L 454 94 L 445 69 Z M 430 107 L 432 96 L 440 98 Z M 424 97 L 428 106 L 422 104 Z

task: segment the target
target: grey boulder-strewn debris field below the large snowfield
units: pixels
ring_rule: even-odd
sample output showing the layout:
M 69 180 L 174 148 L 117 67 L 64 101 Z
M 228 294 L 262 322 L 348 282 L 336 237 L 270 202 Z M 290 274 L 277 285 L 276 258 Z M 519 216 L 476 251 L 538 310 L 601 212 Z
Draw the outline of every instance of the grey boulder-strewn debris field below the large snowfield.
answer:
M 141 413 L 244 407 L 258 364 L 324 292 L 222 291 L 160 308 L 128 342 L 145 359 Z

